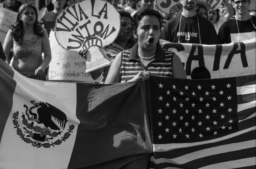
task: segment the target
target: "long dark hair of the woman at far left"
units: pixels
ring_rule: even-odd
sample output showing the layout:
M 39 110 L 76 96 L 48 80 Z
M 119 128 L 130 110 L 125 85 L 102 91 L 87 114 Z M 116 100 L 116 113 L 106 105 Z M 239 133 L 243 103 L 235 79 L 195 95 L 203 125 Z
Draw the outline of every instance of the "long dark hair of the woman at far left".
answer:
M 33 30 L 35 32 L 36 35 L 43 37 L 44 34 L 41 32 L 42 27 L 38 24 L 38 13 L 37 13 L 37 9 L 35 8 L 35 6 L 33 6 L 31 3 L 25 3 L 22 6 L 20 6 L 19 10 L 18 10 L 18 14 L 17 14 L 17 18 L 16 18 L 16 25 L 15 26 L 11 26 L 12 29 L 12 37 L 14 38 L 14 40 L 21 44 L 23 41 L 23 21 L 20 20 L 20 16 L 21 14 L 28 10 L 29 8 L 32 8 L 35 11 L 35 23 L 33 25 Z

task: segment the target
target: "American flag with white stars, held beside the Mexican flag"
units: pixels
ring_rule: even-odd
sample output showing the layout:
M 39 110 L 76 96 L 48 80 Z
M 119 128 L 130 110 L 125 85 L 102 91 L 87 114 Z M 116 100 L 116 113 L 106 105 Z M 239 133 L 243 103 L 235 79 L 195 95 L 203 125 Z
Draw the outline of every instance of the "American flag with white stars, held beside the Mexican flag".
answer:
M 150 77 L 150 168 L 255 169 L 255 79 Z

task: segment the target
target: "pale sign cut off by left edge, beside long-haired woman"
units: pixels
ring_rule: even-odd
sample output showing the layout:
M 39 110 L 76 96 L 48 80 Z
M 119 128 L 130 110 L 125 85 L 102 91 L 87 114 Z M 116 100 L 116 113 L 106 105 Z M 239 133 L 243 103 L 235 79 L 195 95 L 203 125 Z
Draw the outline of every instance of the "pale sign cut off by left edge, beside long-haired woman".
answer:
M 0 8 L 0 42 L 2 45 L 10 26 L 15 24 L 16 17 L 17 12 Z

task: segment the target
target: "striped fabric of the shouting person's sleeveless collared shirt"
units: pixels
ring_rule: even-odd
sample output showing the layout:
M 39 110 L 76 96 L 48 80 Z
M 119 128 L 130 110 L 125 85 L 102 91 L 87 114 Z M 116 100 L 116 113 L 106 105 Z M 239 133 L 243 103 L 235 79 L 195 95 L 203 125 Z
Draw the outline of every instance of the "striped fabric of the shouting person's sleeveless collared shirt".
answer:
M 158 77 L 173 77 L 172 74 L 172 58 L 175 54 L 174 52 L 169 52 L 163 49 L 164 56 L 157 56 L 149 63 L 147 66 L 143 66 L 140 62 L 138 55 L 137 59 L 131 59 L 130 54 L 132 49 L 128 49 L 122 52 L 122 65 L 120 69 L 121 83 L 126 80 L 132 79 L 140 71 L 149 71 L 151 75 Z M 137 50 L 136 50 L 137 51 Z M 134 52 L 133 52 L 134 54 Z M 160 53 L 160 55 L 163 53 Z M 135 56 L 132 56 L 135 57 Z M 163 59 L 162 59 L 163 58 Z M 145 69 L 143 69 L 145 67 Z

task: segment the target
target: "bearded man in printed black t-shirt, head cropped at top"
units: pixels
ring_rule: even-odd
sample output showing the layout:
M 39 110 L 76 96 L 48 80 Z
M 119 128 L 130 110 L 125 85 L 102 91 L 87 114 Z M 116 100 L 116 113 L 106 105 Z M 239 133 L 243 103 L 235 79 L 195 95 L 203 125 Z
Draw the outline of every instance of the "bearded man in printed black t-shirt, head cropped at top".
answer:
M 212 23 L 196 13 L 197 0 L 180 0 L 180 3 L 182 13 L 165 24 L 160 39 L 173 43 L 220 43 Z

